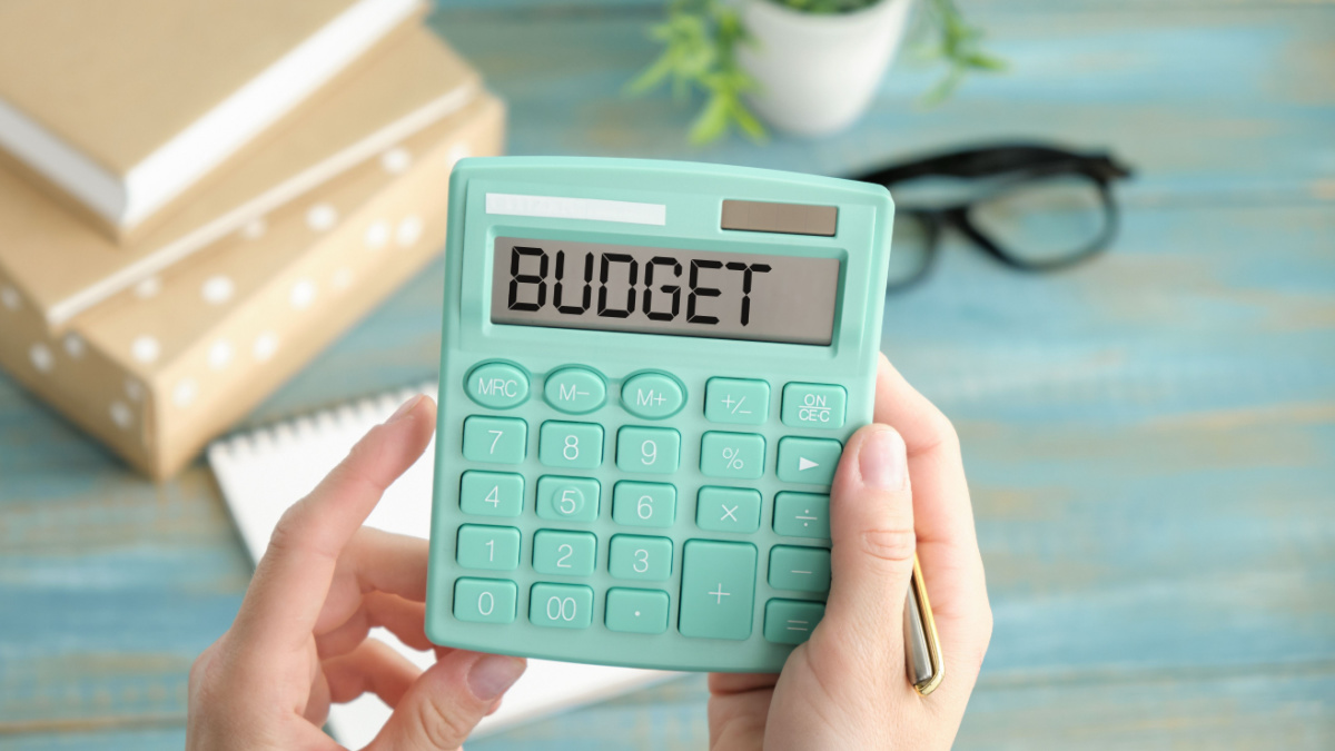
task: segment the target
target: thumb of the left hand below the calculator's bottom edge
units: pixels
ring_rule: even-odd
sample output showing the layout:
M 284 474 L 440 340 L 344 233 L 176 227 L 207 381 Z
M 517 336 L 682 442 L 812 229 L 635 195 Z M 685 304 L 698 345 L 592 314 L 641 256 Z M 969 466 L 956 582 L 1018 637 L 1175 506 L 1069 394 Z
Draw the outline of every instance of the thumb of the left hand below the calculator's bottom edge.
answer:
M 367 750 L 458 748 L 526 667 L 523 657 L 447 652 L 413 683 Z

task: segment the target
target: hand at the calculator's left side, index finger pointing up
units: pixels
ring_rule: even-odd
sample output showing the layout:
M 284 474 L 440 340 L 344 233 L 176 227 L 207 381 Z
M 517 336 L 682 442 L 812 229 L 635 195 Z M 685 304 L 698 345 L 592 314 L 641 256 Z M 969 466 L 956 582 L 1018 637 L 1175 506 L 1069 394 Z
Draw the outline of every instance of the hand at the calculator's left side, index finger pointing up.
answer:
M 426 540 L 362 528 L 434 428 L 435 404 L 411 400 L 283 514 L 236 621 L 190 671 L 187 748 L 342 748 L 320 731 L 330 703 L 367 691 L 394 708 L 368 748 L 457 748 L 499 706 L 525 660 L 433 647 Z M 437 663 L 367 639 L 376 625 Z

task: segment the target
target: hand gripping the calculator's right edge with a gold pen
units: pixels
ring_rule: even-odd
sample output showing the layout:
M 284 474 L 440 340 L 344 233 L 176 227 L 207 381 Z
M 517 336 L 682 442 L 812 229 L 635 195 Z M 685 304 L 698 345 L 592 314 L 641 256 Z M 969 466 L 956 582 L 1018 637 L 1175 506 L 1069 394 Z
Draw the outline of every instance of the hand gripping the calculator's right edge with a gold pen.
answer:
M 876 422 L 849 440 L 830 489 L 825 617 L 780 675 L 709 676 L 716 751 L 917 751 L 955 740 L 992 637 L 960 444 L 945 416 L 884 357 Z M 945 660 L 929 696 L 905 671 L 914 551 Z

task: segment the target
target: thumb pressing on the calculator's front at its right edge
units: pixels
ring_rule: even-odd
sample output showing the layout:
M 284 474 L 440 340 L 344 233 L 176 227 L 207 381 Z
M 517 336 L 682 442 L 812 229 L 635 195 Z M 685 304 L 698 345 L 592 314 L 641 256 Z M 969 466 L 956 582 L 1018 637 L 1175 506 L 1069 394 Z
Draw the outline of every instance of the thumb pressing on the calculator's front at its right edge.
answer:
M 870 669 L 902 664 L 916 537 L 904 438 L 893 428 L 868 425 L 844 448 L 830 541 L 830 592 L 812 641 L 833 639 L 837 647 L 826 647 L 850 649 Z

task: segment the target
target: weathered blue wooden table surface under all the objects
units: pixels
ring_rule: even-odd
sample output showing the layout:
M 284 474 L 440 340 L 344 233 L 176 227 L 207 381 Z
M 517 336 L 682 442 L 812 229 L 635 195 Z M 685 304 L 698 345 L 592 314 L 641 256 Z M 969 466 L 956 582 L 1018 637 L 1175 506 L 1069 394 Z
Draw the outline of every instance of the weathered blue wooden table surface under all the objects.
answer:
M 650 1 L 473 0 L 434 25 L 514 154 L 848 174 L 1007 135 L 1137 167 L 1115 250 L 1053 277 L 949 243 L 884 349 L 963 437 L 996 632 L 960 748 L 1335 748 L 1335 5 L 965 3 L 1011 59 L 932 111 L 684 143 L 627 102 Z M 441 266 L 248 424 L 434 376 Z M 172 748 L 250 565 L 207 468 L 152 485 L 0 376 L 0 747 Z M 698 678 L 470 748 L 701 748 Z

